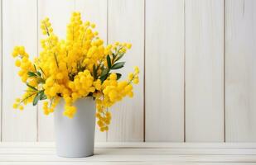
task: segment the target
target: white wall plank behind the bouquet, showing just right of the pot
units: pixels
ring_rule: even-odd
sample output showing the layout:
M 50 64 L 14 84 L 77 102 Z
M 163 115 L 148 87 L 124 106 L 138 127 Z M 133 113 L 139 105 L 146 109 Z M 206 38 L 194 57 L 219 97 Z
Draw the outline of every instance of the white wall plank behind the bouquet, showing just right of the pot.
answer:
M 75 11 L 81 12 L 83 21 L 91 21 L 96 24 L 95 31 L 107 45 L 108 37 L 108 1 L 102 0 L 75 0 Z M 107 134 L 100 132 L 98 125 L 95 129 L 95 141 L 106 141 Z

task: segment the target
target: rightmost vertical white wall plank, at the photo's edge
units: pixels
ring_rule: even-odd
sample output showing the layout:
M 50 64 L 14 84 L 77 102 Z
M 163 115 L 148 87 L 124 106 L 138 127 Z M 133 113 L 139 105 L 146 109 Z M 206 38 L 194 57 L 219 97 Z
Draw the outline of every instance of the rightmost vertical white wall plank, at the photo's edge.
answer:
M 256 142 L 256 2 L 225 6 L 226 141 Z

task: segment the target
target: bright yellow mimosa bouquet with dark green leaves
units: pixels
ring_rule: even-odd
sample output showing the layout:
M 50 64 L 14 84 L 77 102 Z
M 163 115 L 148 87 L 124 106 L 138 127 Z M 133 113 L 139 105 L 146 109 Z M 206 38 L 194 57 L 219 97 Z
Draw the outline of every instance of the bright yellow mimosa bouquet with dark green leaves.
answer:
M 131 44 L 116 42 L 104 45 L 104 40 L 94 31 L 95 25 L 81 20 L 80 12 L 74 12 L 67 26 L 66 39 L 54 34 L 49 18 L 41 21 L 41 30 L 46 38 L 41 40 L 41 53 L 31 61 L 23 46 L 16 46 L 12 56 L 20 68 L 18 75 L 26 83 L 27 90 L 17 98 L 13 108 L 38 101 L 43 102 L 46 115 L 55 110 L 60 99 L 65 100 L 63 115 L 72 118 L 74 102 L 81 97 L 94 97 L 96 117 L 101 131 L 109 130 L 111 114 L 108 111 L 123 97 L 133 97 L 133 83 L 138 84 L 138 67 L 120 81 L 119 62 Z

